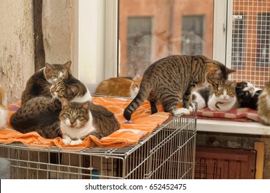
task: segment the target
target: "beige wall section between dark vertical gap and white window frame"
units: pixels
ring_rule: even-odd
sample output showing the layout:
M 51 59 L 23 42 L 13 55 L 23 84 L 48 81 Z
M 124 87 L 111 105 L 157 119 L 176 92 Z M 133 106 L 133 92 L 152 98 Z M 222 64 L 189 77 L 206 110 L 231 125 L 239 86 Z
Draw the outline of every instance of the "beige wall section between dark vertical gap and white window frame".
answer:
M 74 1 L 43 1 L 42 14 L 45 61 L 48 63 L 73 61 Z

